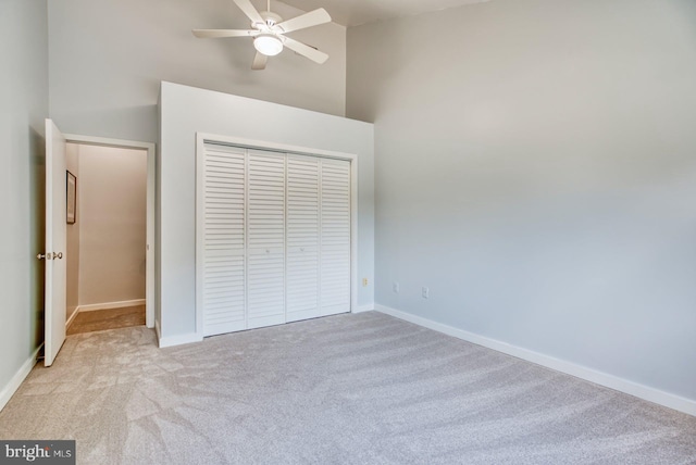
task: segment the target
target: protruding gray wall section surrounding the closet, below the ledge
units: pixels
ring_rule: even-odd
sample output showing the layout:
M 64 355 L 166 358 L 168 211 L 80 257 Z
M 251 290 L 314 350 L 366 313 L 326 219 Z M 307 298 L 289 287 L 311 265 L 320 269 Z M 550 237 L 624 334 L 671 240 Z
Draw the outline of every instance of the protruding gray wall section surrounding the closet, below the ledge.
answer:
M 374 277 L 374 139 L 371 124 L 275 103 L 162 83 L 160 176 L 161 335 L 196 336 L 196 134 L 358 155 L 358 277 Z M 372 309 L 374 288 L 358 288 Z M 188 338 L 188 339 L 187 339 Z

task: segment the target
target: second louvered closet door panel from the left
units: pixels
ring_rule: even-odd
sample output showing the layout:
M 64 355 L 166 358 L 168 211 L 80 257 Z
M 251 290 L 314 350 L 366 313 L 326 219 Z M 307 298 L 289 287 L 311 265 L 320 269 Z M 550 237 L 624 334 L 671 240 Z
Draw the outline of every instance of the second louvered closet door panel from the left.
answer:
M 248 328 L 285 323 L 285 161 L 248 150 Z

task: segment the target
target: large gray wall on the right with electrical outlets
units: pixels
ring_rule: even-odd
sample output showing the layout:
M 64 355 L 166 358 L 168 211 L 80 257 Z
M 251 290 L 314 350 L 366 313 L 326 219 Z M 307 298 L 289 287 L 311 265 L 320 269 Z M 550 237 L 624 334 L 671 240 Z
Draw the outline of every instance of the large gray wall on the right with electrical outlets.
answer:
M 350 28 L 347 102 L 378 304 L 696 400 L 696 2 Z

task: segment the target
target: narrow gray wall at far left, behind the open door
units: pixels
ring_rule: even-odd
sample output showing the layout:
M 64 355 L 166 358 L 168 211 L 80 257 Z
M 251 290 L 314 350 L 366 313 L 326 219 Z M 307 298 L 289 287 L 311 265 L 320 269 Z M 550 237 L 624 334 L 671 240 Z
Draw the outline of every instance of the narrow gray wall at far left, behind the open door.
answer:
M 44 340 L 46 0 L 0 2 L 0 405 Z

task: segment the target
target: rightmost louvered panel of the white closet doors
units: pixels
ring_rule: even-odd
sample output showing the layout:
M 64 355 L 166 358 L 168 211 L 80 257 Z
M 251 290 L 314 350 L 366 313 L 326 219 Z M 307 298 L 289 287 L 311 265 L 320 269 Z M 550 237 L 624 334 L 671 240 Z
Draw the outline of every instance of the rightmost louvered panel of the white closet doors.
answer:
M 321 316 L 350 312 L 350 162 L 321 160 Z

